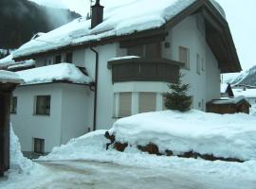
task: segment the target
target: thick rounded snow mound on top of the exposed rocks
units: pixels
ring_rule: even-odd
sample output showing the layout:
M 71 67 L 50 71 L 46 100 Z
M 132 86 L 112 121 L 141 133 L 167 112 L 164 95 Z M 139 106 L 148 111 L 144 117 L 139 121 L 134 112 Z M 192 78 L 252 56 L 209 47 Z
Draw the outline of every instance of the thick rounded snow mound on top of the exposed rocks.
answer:
M 148 112 L 119 119 L 110 133 L 133 146 L 154 143 L 160 152 L 194 151 L 215 157 L 256 160 L 256 117 L 244 113 Z

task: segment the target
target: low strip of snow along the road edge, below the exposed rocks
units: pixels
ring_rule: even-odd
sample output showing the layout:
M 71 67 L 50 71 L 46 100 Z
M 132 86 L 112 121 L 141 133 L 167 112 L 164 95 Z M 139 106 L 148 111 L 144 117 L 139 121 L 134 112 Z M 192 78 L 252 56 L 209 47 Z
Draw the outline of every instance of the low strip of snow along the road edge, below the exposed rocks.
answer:
M 157 172 L 157 168 L 168 168 L 181 172 L 196 172 L 202 174 L 202 176 L 210 174 L 217 177 L 241 177 L 255 180 L 256 161 L 227 163 L 222 161 L 210 162 L 200 159 L 155 156 L 143 153 L 134 146 L 128 146 L 124 152 L 114 149 L 106 150 L 105 144 L 109 141 L 104 137 L 105 131 L 97 130 L 77 139 L 72 139 L 66 145 L 55 147 L 49 155 L 41 157 L 39 161 L 98 161 L 155 168 L 155 172 Z

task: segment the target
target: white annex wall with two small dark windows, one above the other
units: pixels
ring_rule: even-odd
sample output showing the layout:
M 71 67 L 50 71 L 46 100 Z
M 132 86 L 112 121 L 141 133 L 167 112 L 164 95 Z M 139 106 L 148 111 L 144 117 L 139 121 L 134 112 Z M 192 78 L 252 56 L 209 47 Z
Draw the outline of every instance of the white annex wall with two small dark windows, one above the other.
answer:
M 13 129 L 20 139 L 23 151 L 33 151 L 33 138 L 45 139 L 45 150 L 49 152 L 61 141 L 62 90 L 56 85 L 18 87 L 17 113 L 10 114 Z M 34 114 L 35 96 L 51 95 L 50 115 Z

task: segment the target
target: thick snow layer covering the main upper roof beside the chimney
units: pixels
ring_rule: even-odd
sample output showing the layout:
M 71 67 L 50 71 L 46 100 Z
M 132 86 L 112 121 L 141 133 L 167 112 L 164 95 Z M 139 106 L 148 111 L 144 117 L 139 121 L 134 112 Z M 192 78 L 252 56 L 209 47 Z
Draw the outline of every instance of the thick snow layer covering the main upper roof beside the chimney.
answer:
M 67 45 L 101 41 L 108 37 L 158 28 L 195 2 L 196 0 L 101 0 L 104 14 L 100 25 L 91 29 L 90 20 L 76 19 L 65 26 L 32 38 L 16 50 L 13 56 L 25 57 Z M 214 0 L 210 2 L 224 16 L 223 9 Z

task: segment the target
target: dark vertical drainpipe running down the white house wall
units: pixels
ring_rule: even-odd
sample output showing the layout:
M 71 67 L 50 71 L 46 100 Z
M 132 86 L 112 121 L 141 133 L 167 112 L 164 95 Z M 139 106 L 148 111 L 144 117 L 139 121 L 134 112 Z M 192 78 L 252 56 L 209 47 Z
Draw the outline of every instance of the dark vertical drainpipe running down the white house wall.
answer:
M 91 51 L 93 51 L 96 55 L 95 62 L 95 90 L 94 90 L 94 114 L 93 114 L 93 130 L 96 130 L 96 122 L 97 122 L 97 92 L 98 92 L 98 72 L 99 72 L 99 53 L 93 48 L 90 47 Z

